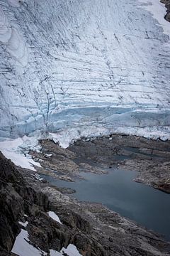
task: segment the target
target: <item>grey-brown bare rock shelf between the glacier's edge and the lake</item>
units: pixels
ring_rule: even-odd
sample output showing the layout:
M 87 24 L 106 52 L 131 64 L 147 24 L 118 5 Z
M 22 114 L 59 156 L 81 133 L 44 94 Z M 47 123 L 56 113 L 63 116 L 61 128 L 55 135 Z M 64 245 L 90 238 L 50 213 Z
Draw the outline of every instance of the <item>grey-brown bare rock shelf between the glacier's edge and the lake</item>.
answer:
M 81 171 L 107 174 L 116 168 L 137 171 L 134 181 L 170 193 L 170 142 L 127 135 L 82 138 L 62 149 L 50 140 L 40 141 L 40 152 L 30 151 L 45 174 L 64 181 L 76 181 Z

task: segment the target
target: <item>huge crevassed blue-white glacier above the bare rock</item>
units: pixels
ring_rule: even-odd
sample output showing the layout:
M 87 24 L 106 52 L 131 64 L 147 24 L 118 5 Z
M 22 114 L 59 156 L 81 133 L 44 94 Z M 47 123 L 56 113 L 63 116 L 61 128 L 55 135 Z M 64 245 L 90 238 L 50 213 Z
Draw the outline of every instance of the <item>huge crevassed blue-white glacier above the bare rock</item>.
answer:
M 152 2 L 1 0 L 0 137 L 169 134 L 169 23 Z

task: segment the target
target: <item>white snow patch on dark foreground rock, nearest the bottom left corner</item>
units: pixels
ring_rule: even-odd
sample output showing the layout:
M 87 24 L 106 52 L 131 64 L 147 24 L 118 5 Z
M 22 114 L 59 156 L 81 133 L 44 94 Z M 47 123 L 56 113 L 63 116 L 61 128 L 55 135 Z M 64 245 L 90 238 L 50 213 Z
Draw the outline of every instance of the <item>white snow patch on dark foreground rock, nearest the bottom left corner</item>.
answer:
M 16 237 L 13 248 L 11 252 L 16 253 L 18 256 L 46 256 L 47 253 L 42 250 L 30 245 L 30 240 L 28 238 L 28 232 L 26 230 L 21 230 L 21 233 Z

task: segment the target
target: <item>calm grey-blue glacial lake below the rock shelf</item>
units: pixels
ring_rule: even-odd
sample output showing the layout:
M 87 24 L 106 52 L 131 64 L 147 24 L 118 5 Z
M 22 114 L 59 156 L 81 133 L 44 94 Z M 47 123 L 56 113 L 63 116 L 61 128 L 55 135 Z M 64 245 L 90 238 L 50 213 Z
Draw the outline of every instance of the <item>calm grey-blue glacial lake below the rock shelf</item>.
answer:
M 170 195 L 142 183 L 136 183 L 135 171 L 110 169 L 108 174 L 81 173 L 86 180 L 60 181 L 41 175 L 58 187 L 73 188 L 80 201 L 103 203 L 126 218 L 170 240 Z

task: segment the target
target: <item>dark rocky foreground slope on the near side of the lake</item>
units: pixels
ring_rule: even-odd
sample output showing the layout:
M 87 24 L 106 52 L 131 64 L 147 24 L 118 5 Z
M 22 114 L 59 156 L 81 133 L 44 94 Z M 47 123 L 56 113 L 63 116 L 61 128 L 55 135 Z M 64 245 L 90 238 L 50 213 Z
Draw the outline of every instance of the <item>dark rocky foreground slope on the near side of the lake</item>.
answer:
M 21 230 L 26 230 L 29 245 L 45 253 L 42 255 L 71 243 L 84 256 L 170 255 L 169 242 L 101 204 L 64 195 L 2 154 L 0 166 L 1 255 L 15 255 L 11 249 Z M 49 210 L 62 224 L 47 215 Z

